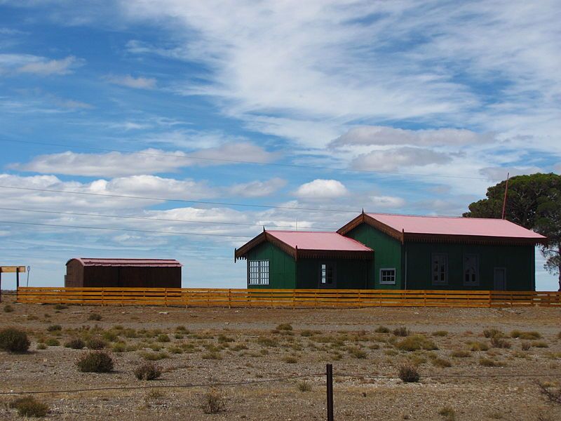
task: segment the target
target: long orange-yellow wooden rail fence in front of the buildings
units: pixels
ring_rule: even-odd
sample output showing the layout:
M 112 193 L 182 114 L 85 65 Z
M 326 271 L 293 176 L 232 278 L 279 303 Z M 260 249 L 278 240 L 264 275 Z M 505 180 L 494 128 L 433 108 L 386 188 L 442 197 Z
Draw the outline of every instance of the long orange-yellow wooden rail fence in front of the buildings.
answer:
M 20 287 L 18 302 L 184 307 L 560 307 L 561 292 Z

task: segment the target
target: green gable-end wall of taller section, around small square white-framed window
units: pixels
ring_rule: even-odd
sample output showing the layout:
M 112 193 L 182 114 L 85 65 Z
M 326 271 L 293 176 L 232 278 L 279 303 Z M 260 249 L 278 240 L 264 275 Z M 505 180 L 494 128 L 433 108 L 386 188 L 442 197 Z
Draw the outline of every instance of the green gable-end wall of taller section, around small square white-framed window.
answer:
M 360 241 L 374 250 L 374 260 L 370 262 L 368 271 L 368 288 L 403 288 L 402 245 L 398 240 L 367 224 L 358 225 L 351 229 L 346 236 Z M 380 285 L 380 268 L 382 267 L 396 268 L 396 285 Z

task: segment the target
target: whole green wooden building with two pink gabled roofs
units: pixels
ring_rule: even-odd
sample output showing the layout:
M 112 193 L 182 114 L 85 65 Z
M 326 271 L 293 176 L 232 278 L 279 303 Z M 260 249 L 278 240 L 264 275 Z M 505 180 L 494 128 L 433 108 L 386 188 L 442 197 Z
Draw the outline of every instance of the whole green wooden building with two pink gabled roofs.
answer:
M 536 243 L 506 220 L 361 213 L 334 232 L 264 231 L 248 288 L 535 290 Z

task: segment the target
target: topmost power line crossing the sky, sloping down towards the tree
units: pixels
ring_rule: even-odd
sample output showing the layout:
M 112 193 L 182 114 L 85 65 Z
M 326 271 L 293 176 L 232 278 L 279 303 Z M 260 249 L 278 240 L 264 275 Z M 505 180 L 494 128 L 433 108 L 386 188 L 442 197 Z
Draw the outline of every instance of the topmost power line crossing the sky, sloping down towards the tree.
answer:
M 108 149 L 108 148 L 100 148 L 100 147 L 89 147 L 89 146 L 80 146 L 80 145 L 65 145 L 62 143 L 50 143 L 50 142 L 33 142 L 32 140 L 14 140 L 14 139 L 1 139 L 4 142 L 13 142 L 13 143 L 24 143 L 29 145 L 43 145 L 43 146 L 56 146 L 56 147 L 69 147 L 74 149 L 89 149 L 94 151 L 102 151 L 102 152 L 119 152 L 122 154 L 140 154 L 140 155 L 147 155 L 147 156 L 169 156 L 177 159 L 198 159 L 201 161 L 217 161 L 217 162 L 228 162 L 228 163 L 247 163 L 253 165 L 262 165 L 262 166 L 278 166 L 278 167 L 285 167 L 285 168 L 303 168 L 303 169 L 315 169 L 315 170 L 324 170 L 324 171 L 341 171 L 344 173 L 364 173 L 364 174 L 380 174 L 380 175 L 400 175 L 404 177 L 427 177 L 427 178 L 450 178 L 450 179 L 460 179 L 460 180 L 487 180 L 484 177 L 468 177 L 468 176 L 461 176 L 461 175 L 439 175 L 439 174 L 419 174 L 419 173 L 398 173 L 397 171 L 376 171 L 376 170 L 358 170 L 354 168 L 337 168 L 337 167 L 329 167 L 329 166 L 311 166 L 311 165 L 303 165 L 297 163 L 276 163 L 276 162 L 261 162 L 261 161 L 245 161 L 239 159 L 227 159 L 227 158 L 208 158 L 203 156 L 177 156 L 175 154 L 156 154 L 153 152 L 142 152 L 142 151 L 133 151 L 130 149 Z

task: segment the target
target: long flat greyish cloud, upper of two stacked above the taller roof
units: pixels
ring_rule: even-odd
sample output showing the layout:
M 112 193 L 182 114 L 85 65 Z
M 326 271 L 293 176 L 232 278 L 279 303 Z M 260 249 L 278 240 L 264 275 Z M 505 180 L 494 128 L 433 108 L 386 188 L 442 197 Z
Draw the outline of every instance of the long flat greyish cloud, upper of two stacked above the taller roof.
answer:
M 431 130 L 405 130 L 386 126 L 362 126 L 351 128 L 330 143 L 330 147 L 413 145 L 458 146 L 490 142 L 493 136 L 457 128 Z

